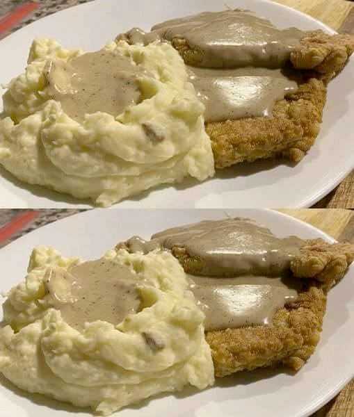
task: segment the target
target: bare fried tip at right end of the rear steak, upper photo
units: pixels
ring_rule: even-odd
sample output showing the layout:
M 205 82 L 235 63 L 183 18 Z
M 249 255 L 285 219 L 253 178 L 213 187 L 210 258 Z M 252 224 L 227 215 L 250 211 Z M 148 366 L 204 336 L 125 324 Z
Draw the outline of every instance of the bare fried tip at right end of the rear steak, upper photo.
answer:
M 314 70 L 327 83 L 343 69 L 353 51 L 353 35 L 313 31 L 300 40 L 300 47 L 291 52 L 290 60 L 293 67 Z

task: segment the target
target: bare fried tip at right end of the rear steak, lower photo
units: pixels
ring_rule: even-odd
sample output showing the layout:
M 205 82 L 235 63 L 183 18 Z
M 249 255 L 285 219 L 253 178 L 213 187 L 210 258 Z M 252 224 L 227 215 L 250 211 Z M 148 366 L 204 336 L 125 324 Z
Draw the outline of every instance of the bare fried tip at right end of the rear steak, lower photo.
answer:
M 300 256 L 291 261 L 295 277 L 316 279 L 324 291 L 328 291 L 341 279 L 354 260 L 354 245 L 335 243 L 322 239 L 307 240 L 300 249 Z

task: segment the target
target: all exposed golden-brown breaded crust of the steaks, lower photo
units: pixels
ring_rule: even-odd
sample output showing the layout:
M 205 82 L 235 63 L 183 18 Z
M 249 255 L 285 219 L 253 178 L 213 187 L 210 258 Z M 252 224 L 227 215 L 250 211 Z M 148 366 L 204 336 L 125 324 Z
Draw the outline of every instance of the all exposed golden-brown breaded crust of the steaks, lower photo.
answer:
M 117 249 L 129 250 L 127 243 Z M 184 247 L 172 247 L 184 271 L 208 275 L 202 259 Z M 345 274 L 354 260 L 354 245 L 306 240 L 290 265 L 294 279 L 301 279 L 298 300 L 285 304 L 272 325 L 223 329 L 206 333 L 216 377 L 266 366 L 300 369 L 319 343 L 328 290 Z

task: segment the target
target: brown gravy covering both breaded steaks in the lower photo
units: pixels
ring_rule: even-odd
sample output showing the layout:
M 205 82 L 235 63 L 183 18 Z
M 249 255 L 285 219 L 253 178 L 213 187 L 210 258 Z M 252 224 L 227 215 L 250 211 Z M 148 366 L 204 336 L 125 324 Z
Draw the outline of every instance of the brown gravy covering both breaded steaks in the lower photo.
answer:
M 277 238 L 244 218 L 205 220 L 167 229 L 152 240 L 127 241 L 132 252 L 183 247 L 198 257 L 201 275 L 188 279 L 207 331 L 271 325 L 277 309 L 298 297 L 300 281 L 289 279 L 289 266 L 304 244 L 296 236 Z

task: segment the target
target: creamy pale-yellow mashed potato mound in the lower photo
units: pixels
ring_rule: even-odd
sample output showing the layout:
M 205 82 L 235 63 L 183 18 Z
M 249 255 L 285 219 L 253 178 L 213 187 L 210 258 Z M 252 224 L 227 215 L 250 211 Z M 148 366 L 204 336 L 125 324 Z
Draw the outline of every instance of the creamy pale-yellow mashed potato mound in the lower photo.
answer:
M 83 263 L 40 247 L 31 255 L 26 281 L 3 305 L 0 372 L 21 389 L 102 414 L 186 384 L 213 384 L 204 314 L 177 259 L 158 250 L 118 250 L 102 261 L 129 268 L 140 311 L 115 324 L 96 320 L 72 327 L 53 306 L 48 271 L 74 271 Z

